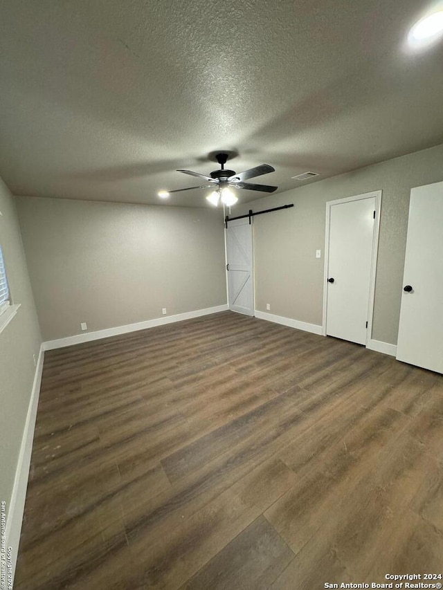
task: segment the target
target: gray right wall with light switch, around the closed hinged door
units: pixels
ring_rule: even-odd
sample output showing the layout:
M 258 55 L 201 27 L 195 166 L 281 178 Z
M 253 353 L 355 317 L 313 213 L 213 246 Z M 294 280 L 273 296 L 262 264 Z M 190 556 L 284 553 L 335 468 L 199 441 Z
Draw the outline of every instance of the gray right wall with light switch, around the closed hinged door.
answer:
M 325 203 L 381 189 L 372 338 L 396 344 L 410 189 L 442 180 L 443 145 L 439 145 L 233 208 L 234 216 L 249 208 L 295 205 L 253 221 L 255 308 L 266 311 L 270 303 L 270 313 L 321 324 Z M 315 257 L 318 248 L 321 259 Z

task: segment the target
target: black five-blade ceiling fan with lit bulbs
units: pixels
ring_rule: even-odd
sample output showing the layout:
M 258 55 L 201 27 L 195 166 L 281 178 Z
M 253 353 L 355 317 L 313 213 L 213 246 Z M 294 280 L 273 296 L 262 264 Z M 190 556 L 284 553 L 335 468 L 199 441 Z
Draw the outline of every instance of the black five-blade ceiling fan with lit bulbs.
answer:
M 238 199 L 235 194 L 230 190 L 229 187 L 235 189 L 246 189 L 246 190 L 257 190 L 262 192 L 274 192 L 278 187 L 269 185 L 256 185 L 251 183 L 245 183 L 244 181 L 248 178 L 255 178 L 255 176 L 261 176 L 262 174 L 269 174 L 269 172 L 275 172 L 275 168 L 269 164 L 260 164 L 255 168 L 250 168 L 244 172 L 236 174 L 234 170 L 225 169 L 224 165 L 228 160 L 228 154 L 216 154 L 215 158 L 219 163 L 221 169 L 210 172 L 210 176 L 199 174 L 198 172 L 192 172 L 192 170 L 177 170 L 177 172 L 183 172 L 183 174 L 190 174 L 190 176 L 197 176 L 197 178 L 204 178 L 209 184 L 201 185 L 198 187 L 179 188 L 177 190 L 161 191 L 159 196 L 167 197 L 173 192 L 181 192 L 183 190 L 194 190 L 197 188 L 213 188 L 213 192 L 206 197 L 210 203 L 217 206 L 219 201 L 224 205 L 233 205 L 237 203 Z

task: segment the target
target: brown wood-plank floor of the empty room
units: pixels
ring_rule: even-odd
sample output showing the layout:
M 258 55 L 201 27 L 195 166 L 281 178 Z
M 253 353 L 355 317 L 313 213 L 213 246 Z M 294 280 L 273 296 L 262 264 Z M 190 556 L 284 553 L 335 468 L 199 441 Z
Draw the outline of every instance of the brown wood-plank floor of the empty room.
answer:
M 15 589 L 443 566 L 443 376 L 219 313 L 46 352 Z

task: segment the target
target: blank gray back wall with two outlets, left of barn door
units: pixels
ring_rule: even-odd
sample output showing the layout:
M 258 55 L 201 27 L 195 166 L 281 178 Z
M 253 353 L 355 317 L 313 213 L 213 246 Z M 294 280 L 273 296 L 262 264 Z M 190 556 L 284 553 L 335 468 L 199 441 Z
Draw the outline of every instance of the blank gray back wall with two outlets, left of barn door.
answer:
M 44 340 L 226 304 L 221 211 L 17 197 Z

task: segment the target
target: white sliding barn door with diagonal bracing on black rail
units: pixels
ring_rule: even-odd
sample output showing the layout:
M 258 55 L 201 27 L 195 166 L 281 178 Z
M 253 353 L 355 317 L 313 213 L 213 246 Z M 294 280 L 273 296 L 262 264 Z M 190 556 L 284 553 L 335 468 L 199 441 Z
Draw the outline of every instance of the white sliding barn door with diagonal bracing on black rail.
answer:
M 254 315 L 252 225 L 247 218 L 228 221 L 226 258 L 229 308 Z

